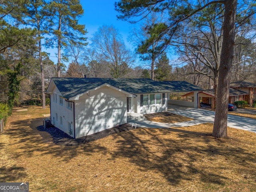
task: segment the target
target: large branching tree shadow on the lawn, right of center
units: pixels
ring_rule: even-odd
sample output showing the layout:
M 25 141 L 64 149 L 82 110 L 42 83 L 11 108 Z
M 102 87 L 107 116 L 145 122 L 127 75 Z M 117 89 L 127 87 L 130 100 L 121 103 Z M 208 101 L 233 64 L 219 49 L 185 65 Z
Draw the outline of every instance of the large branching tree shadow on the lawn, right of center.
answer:
M 166 137 L 171 134 L 178 136 Z M 143 140 L 141 135 L 145 136 Z M 136 132 L 119 134 L 116 139 L 119 147 L 112 154 L 112 158 L 116 154 L 129 158 L 140 171 L 160 172 L 172 185 L 179 184 L 181 180 L 192 181 L 193 177 L 198 177 L 203 183 L 223 186 L 230 178 L 222 174 L 226 168 L 218 163 L 218 159 L 230 164 L 244 165 L 238 168 L 241 169 L 240 172 L 244 171 L 246 164 L 256 161 L 255 156 L 243 148 L 229 144 L 227 146 L 225 140 L 214 138 L 210 133 L 176 128 L 140 128 Z M 198 145 L 195 143 L 197 140 L 200 142 Z M 230 159 L 236 159 L 236 162 Z

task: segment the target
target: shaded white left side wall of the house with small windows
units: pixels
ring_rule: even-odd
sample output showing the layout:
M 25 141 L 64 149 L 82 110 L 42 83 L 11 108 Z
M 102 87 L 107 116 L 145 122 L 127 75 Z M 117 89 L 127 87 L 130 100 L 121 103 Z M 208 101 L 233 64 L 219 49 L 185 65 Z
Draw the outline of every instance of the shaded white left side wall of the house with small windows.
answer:
M 57 96 L 57 102 L 54 101 L 54 94 Z M 73 110 L 67 109 L 67 104 L 65 99 L 63 99 L 63 104 L 59 102 L 60 96 L 59 90 L 55 87 L 53 93 L 51 94 L 51 120 L 52 124 L 64 131 L 66 134 L 74 137 L 74 118 Z M 72 103 L 73 104 L 73 103 Z M 58 121 L 56 120 L 56 114 L 58 115 Z M 60 124 L 60 117 L 62 117 L 62 125 Z M 71 131 L 68 130 L 68 122 L 71 124 Z

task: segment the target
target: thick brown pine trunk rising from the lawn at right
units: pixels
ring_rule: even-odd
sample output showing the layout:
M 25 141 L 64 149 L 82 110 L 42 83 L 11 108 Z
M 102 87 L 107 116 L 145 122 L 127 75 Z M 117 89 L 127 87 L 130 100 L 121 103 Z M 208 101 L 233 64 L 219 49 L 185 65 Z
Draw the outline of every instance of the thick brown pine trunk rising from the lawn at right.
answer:
M 228 96 L 235 39 L 237 0 L 225 1 L 223 42 L 220 56 L 218 94 L 212 136 L 227 137 Z

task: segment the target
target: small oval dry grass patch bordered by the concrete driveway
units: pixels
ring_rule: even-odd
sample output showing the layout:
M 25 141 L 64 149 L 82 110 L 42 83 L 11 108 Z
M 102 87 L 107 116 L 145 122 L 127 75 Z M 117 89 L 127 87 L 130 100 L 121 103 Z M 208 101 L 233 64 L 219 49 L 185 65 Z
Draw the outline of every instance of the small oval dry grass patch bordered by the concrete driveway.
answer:
M 159 113 L 151 113 L 144 115 L 147 120 L 155 121 L 155 122 L 162 122 L 162 123 L 178 123 L 184 121 L 191 121 L 192 118 L 173 114 L 170 112 L 159 112 Z

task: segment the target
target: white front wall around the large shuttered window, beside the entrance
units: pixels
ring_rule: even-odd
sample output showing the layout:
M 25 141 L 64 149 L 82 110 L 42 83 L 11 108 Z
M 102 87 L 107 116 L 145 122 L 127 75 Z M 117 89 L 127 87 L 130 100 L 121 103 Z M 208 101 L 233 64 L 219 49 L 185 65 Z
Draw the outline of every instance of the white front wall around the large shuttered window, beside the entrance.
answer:
M 167 111 L 167 93 L 165 93 L 165 104 L 162 104 L 163 103 L 162 93 L 161 93 L 161 104 L 140 106 L 140 94 L 138 94 L 138 96 L 134 98 L 134 100 L 136 100 L 136 104 L 134 106 L 136 106 L 135 112 L 137 113 L 150 114 L 150 113 Z

